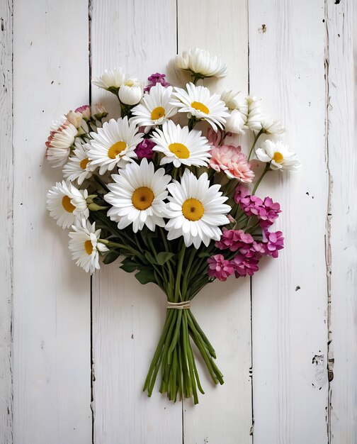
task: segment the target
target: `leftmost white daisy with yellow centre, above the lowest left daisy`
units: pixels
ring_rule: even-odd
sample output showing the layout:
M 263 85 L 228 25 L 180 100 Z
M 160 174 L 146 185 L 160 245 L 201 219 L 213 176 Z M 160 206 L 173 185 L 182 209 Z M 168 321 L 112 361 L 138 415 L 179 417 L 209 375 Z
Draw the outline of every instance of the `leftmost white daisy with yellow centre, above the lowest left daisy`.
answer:
M 77 189 L 63 180 L 62 183 L 57 182 L 47 193 L 47 209 L 57 225 L 69 228 L 77 218 L 89 217 L 87 197 L 86 189 Z

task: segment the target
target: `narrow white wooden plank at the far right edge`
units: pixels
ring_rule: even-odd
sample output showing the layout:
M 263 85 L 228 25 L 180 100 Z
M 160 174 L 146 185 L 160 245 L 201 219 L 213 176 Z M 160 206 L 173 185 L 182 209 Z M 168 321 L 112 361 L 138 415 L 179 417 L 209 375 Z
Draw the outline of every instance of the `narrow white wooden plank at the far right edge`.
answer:
M 353 17 L 354 13 L 354 17 Z M 357 8 L 353 1 L 326 1 L 327 228 L 329 289 L 329 443 L 357 441 L 356 338 L 356 79 Z M 354 25 L 354 26 L 353 26 Z M 353 28 L 355 35 L 353 35 Z M 354 55 L 354 60 L 353 60 Z M 354 63 L 353 63 L 354 62 Z

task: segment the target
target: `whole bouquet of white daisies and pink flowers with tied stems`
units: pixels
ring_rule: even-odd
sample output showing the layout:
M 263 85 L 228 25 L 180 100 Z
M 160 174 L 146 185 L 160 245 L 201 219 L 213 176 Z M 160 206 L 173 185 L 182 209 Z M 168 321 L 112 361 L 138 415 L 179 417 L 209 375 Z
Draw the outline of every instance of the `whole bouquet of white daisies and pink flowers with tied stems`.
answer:
M 298 162 L 258 99 L 198 85 L 227 74 L 217 57 L 195 48 L 176 56 L 176 67 L 191 75 L 183 88 L 165 74 L 144 87 L 120 68 L 106 70 L 93 83 L 115 95 L 120 118 L 81 106 L 53 123 L 47 160 L 63 168 L 64 180 L 48 192 L 47 209 L 72 228 L 69 249 L 86 272 L 100 268 L 99 257 L 119 260 L 164 292 L 166 321 L 144 390 L 151 396 L 161 369 L 160 392 L 197 404 L 203 389 L 193 344 L 212 381 L 223 384 L 223 376 L 191 300 L 215 279 L 252 276 L 261 257 L 278 257 L 283 236 L 271 226 L 280 205 L 255 193 L 268 172 Z M 263 164 L 257 180 L 253 156 Z

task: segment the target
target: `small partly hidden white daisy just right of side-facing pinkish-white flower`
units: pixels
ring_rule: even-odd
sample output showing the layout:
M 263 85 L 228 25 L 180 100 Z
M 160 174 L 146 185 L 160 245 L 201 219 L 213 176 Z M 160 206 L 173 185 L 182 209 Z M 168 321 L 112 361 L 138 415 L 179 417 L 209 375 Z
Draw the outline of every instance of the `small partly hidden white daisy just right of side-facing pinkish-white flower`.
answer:
M 77 141 L 74 146 L 76 148 L 72 156 L 69 157 L 67 164 L 63 167 L 63 177 L 70 182 L 77 180 L 78 184 L 81 185 L 84 179 L 91 177 L 95 167 L 89 162 L 89 144 L 83 145 Z

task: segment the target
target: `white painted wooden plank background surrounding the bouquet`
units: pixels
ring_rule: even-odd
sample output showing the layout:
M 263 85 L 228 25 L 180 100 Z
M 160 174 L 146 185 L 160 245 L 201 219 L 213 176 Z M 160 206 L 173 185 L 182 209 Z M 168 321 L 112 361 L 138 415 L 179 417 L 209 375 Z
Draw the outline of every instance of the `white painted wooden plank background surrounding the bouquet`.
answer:
M 0 0 L 1 444 L 357 443 L 356 14 L 353 0 Z M 227 61 L 220 85 L 265 99 L 302 162 L 261 189 L 283 206 L 281 257 L 194 301 L 225 374 L 203 377 L 198 406 L 141 392 L 165 313 L 154 286 L 117 265 L 90 282 L 45 210 L 52 119 L 103 100 L 104 68 L 145 79 L 190 46 Z

